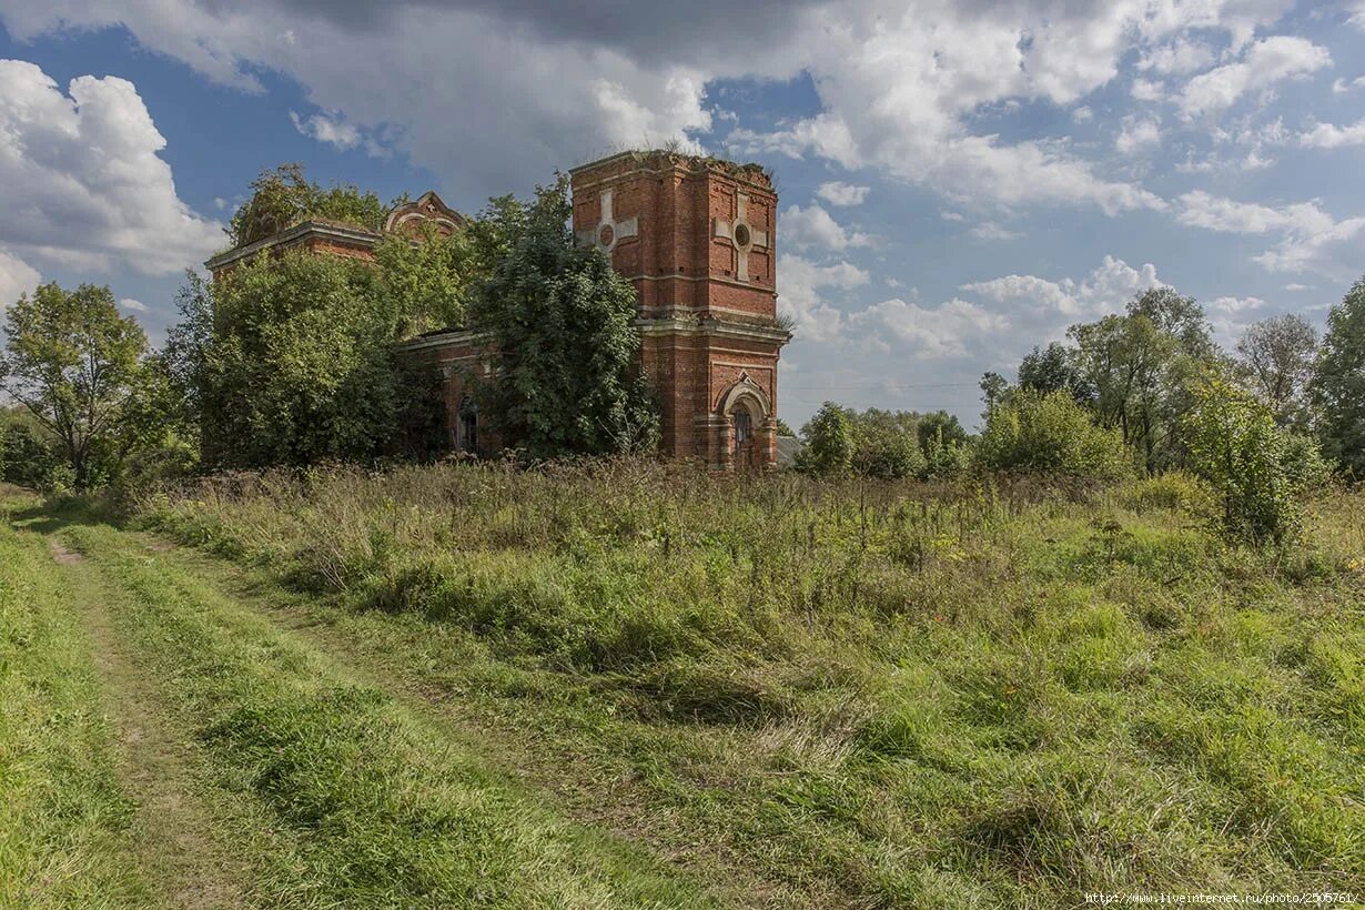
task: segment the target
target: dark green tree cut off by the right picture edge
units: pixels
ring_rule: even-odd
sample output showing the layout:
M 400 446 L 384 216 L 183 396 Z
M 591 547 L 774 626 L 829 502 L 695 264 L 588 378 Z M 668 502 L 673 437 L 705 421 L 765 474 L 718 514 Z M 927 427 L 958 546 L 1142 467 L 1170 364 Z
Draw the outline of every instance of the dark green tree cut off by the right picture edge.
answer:
M 1365 478 L 1365 276 L 1327 317 L 1309 397 L 1323 452 Z

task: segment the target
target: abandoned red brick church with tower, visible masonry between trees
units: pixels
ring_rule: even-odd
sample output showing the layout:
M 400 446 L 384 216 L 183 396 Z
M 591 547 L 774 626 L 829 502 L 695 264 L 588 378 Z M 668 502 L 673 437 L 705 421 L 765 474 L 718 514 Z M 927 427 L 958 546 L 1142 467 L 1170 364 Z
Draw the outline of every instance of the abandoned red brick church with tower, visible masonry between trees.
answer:
M 662 449 L 713 469 L 777 464 L 777 363 L 790 333 L 777 321 L 777 194 L 756 165 L 672 151 L 625 151 L 569 172 L 573 233 L 595 244 L 639 295 L 642 368 L 662 411 Z M 434 192 L 389 213 L 385 231 L 465 220 Z M 266 250 L 302 247 L 371 259 L 382 233 L 304 221 L 214 256 L 224 270 Z M 490 454 L 464 378 L 487 370 L 478 330 L 427 334 L 404 344 L 444 377 L 450 445 Z

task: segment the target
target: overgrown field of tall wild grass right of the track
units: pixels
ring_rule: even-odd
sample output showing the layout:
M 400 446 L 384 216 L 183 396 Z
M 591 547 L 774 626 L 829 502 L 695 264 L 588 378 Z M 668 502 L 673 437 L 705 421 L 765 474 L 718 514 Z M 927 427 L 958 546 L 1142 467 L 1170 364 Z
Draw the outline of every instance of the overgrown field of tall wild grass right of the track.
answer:
M 139 521 L 725 900 L 1365 894 L 1365 495 L 1280 551 L 1201 501 L 449 465 L 218 478 Z M 319 760 L 317 823 L 374 823 L 358 759 Z

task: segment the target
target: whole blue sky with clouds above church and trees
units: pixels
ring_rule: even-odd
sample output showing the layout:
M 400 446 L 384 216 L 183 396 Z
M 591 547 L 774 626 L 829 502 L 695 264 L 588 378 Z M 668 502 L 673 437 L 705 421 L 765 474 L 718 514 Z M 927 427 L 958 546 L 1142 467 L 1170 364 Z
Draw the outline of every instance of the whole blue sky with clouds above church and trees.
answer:
M 247 183 L 528 192 L 624 147 L 768 165 L 779 411 L 947 408 L 1162 282 L 1220 341 L 1365 273 L 1365 0 L 0 0 L 0 303 L 154 338 Z

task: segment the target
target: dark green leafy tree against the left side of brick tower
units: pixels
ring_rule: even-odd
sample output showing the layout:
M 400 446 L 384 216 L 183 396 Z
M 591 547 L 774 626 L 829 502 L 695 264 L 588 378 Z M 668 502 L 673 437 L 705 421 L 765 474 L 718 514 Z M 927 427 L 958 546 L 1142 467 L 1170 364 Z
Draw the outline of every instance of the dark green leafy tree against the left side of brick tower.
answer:
M 530 205 L 494 199 L 471 232 L 471 261 L 491 265 L 471 300 L 493 344 L 479 387 L 509 445 L 534 458 L 648 450 L 658 408 L 640 372 L 635 287 L 569 233 L 568 180 Z

